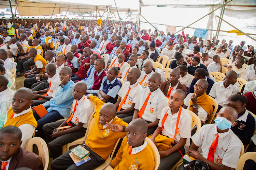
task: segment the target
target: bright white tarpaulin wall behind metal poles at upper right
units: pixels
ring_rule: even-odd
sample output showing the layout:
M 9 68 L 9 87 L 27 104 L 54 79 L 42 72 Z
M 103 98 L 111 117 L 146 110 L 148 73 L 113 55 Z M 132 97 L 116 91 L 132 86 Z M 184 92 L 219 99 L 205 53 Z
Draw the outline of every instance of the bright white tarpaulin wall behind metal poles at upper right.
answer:
M 217 7 L 222 5 L 222 3 L 223 0 L 142 0 L 140 13 L 150 23 L 158 23 L 158 30 L 166 32 L 166 26 L 160 24 L 186 27 L 216 9 Z M 158 7 L 154 4 L 167 6 Z M 175 6 L 172 4 L 175 4 Z M 213 6 L 212 4 L 215 5 Z M 245 33 L 256 34 L 256 7 L 254 7 L 255 5 L 255 0 L 232 0 L 226 5 L 223 19 Z M 216 15 L 220 16 L 220 14 L 221 8 L 189 27 L 217 30 L 219 19 L 216 17 Z M 140 16 L 138 16 L 138 18 L 139 17 Z M 140 17 L 140 21 L 142 21 L 140 23 L 140 28 L 151 29 L 152 32 L 153 30 L 155 30 L 150 24 L 144 23 L 146 21 L 142 17 Z M 176 27 L 176 31 L 179 31 L 181 29 L 181 27 Z M 222 21 L 220 30 L 229 31 L 234 30 L 234 28 Z M 184 30 L 185 34 L 188 33 L 190 36 L 193 36 L 194 31 L 195 29 L 189 28 L 186 28 Z M 179 33 L 182 33 L 182 31 L 180 31 Z M 207 39 L 210 39 L 210 34 L 212 34 L 211 37 L 213 37 L 215 36 L 216 31 L 208 31 Z M 253 38 L 256 38 L 255 35 L 251 36 Z M 220 41 L 222 39 L 226 39 L 226 41 L 232 39 L 234 45 L 240 44 L 240 41 L 245 40 L 246 45 L 254 45 L 254 47 L 256 47 L 256 42 L 245 35 L 237 36 L 234 33 L 219 32 L 218 39 Z

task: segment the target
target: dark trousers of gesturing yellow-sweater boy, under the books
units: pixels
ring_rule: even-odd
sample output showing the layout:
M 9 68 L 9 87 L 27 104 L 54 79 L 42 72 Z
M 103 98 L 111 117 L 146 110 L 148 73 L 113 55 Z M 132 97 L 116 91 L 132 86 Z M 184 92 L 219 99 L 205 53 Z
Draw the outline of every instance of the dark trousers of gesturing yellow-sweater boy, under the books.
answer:
M 89 147 L 85 146 L 84 148 L 90 152 L 89 157 L 91 158 L 91 160 L 77 167 L 74 164 L 71 157 L 69 156 L 69 153 L 72 150 L 70 149 L 69 151 L 63 153 L 62 155 L 60 155 L 59 157 L 52 161 L 52 170 L 92 170 L 99 167 L 105 162 L 104 159 L 102 159 L 97 153 L 92 151 Z

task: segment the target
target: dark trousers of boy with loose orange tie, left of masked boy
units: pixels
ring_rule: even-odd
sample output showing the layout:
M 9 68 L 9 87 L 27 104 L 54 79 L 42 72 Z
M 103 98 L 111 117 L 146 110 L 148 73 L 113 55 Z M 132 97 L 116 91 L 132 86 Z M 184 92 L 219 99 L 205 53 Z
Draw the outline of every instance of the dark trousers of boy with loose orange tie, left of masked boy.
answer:
M 185 154 L 185 149 L 182 147 L 181 153 Z M 163 157 L 160 159 L 160 165 L 158 167 L 158 170 L 169 170 L 181 159 L 181 153 L 179 151 L 175 151 L 171 153 L 170 155 Z

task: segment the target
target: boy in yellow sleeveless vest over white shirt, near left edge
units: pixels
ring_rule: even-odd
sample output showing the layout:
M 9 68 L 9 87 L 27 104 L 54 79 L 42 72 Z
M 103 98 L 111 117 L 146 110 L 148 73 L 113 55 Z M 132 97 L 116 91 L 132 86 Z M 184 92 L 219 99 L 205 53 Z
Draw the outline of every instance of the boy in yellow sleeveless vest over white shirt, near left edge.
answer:
M 32 138 L 37 121 L 33 116 L 31 105 L 33 92 L 29 88 L 19 88 L 13 95 L 12 107 L 8 110 L 4 126 L 16 126 L 22 131 L 22 145 L 25 148 L 27 141 Z

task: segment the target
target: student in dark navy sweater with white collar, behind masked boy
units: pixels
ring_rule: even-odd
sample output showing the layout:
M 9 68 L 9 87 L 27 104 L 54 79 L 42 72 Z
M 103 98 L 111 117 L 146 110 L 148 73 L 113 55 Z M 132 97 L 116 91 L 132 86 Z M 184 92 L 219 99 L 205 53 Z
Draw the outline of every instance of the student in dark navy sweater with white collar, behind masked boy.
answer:
M 244 145 L 250 143 L 255 128 L 255 119 L 246 110 L 247 98 L 243 95 L 233 95 L 230 98 L 229 105 L 236 109 L 238 118 L 236 125 L 231 127 L 231 130 L 236 134 Z

